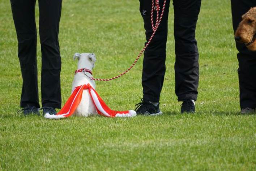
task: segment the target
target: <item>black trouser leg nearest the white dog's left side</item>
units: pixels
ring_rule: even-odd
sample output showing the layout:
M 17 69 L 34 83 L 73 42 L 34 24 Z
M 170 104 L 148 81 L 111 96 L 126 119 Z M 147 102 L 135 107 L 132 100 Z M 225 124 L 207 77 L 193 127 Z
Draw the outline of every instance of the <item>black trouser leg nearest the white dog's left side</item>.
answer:
M 61 108 L 59 22 L 62 0 L 39 0 L 39 34 L 42 51 L 42 106 Z

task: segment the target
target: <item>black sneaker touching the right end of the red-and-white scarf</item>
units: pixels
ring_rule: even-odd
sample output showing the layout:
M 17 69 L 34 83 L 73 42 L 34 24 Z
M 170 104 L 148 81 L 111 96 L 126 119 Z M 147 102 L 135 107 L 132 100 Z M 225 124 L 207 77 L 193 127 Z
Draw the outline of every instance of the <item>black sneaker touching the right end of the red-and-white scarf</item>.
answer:
M 157 106 L 154 106 L 152 103 L 149 103 L 149 101 L 145 101 L 144 99 L 141 99 L 141 102 L 138 104 L 135 104 L 136 106 L 136 113 L 138 115 L 161 115 L 162 112 L 159 109 L 159 103 Z

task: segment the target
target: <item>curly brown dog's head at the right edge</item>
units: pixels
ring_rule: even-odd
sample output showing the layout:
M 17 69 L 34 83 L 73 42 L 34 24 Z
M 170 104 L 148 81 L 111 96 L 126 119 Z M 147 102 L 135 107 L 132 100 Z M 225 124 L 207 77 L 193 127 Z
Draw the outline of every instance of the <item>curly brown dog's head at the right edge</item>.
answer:
M 251 51 L 256 51 L 256 7 L 242 16 L 242 21 L 235 32 L 235 40 L 244 43 Z

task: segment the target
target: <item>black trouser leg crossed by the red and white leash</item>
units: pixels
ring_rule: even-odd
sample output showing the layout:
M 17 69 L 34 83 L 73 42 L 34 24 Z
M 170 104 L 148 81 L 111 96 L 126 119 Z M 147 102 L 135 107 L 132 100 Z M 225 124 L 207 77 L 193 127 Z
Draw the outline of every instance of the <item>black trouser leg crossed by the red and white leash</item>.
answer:
M 159 1 L 161 9 L 163 0 Z M 140 0 L 140 12 L 144 21 L 146 30 L 146 40 L 151 37 L 153 30 L 151 26 L 151 7 L 152 1 Z M 164 16 L 155 33 L 152 42 L 144 52 L 143 70 L 142 70 L 142 87 L 143 98 L 152 102 L 158 102 L 165 77 L 165 59 L 166 59 L 166 41 L 167 41 L 167 22 L 170 0 L 167 0 Z M 159 12 L 161 14 L 161 11 Z M 156 12 L 154 11 L 154 21 Z

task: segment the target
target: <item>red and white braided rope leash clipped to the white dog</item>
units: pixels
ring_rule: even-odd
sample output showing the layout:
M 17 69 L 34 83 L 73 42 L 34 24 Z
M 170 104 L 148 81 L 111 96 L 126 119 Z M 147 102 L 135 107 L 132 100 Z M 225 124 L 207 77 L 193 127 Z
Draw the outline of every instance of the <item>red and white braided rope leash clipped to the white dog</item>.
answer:
M 142 55 L 142 53 L 145 51 L 145 49 L 149 46 L 151 40 L 153 39 L 154 35 L 155 35 L 155 32 L 157 31 L 160 23 L 161 23 L 161 20 L 162 20 L 162 17 L 163 17 L 163 12 L 165 11 L 165 5 L 166 5 L 166 0 L 163 2 L 163 9 L 162 9 L 162 13 L 159 17 L 159 10 L 160 10 L 160 6 L 159 6 L 159 0 L 152 0 L 152 8 L 151 8 L 151 25 L 152 25 L 152 30 L 153 30 L 153 33 L 151 35 L 151 37 L 149 38 L 149 41 L 146 43 L 145 47 L 140 51 L 140 54 L 138 54 L 137 58 L 135 59 L 135 61 L 133 62 L 133 64 L 131 65 L 130 68 L 128 68 L 127 70 L 125 70 L 123 73 L 119 74 L 118 76 L 115 76 L 115 77 L 112 77 L 112 78 L 109 78 L 109 79 L 102 79 L 102 78 L 93 78 L 93 77 L 90 77 L 91 80 L 95 80 L 95 81 L 111 81 L 111 80 L 114 80 L 116 78 L 119 78 L 121 76 L 123 76 L 124 74 L 126 74 L 127 72 L 129 72 L 129 70 L 131 70 L 134 65 L 137 63 L 138 59 L 140 58 L 140 56 Z M 157 19 L 156 19 L 156 22 L 155 22 L 155 25 L 154 25 L 154 21 L 153 21 L 153 12 L 154 10 L 157 11 Z

